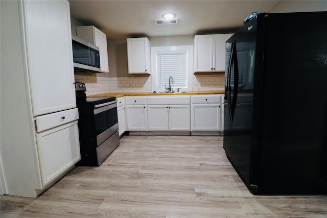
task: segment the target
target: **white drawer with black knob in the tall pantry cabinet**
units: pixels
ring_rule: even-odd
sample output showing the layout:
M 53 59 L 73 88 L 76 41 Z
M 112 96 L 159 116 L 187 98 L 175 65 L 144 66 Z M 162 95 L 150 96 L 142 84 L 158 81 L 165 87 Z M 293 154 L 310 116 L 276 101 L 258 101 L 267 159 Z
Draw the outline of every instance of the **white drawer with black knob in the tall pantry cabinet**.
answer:
M 78 118 L 77 108 L 38 116 L 36 117 L 36 130 L 37 132 L 42 132 L 44 130 L 70 123 Z

